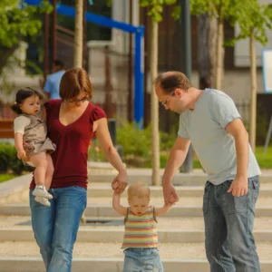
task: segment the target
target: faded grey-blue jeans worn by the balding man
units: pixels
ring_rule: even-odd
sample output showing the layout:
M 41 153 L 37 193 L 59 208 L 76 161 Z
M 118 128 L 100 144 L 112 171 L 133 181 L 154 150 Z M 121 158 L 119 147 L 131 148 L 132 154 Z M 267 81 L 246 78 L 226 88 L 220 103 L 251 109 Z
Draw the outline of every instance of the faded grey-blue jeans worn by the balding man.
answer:
M 260 272 L 252 235 L 258 176 L 248 179 L 248 194 L 228 193 L 232 180 L 206 182 L 203 197 L 205 248 L 211 272 Z

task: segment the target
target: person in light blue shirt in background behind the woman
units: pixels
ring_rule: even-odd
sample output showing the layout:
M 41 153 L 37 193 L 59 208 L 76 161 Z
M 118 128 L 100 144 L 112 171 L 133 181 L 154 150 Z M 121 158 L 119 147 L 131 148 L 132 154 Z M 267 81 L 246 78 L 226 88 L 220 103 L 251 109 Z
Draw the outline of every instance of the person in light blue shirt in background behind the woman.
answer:
M 60 83 L 65 70 L 63 69 L 63 62 L 55 60 L 53 62 L 53 73 L 50 74 L 44 83 L 44 92 L 48 99 L 60 99 Z

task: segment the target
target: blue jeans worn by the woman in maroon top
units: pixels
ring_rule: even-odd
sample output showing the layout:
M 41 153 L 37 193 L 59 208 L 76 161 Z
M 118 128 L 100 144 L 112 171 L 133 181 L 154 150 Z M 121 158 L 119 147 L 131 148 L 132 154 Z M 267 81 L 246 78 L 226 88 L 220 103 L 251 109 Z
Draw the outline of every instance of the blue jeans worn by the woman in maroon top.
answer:
M 70 272 L 73 244 L 86 207 L 86 189 L 65 187 L 50 189 L 51 207 L 34 200 L 29 191 L 32 228 L 47 272 Z

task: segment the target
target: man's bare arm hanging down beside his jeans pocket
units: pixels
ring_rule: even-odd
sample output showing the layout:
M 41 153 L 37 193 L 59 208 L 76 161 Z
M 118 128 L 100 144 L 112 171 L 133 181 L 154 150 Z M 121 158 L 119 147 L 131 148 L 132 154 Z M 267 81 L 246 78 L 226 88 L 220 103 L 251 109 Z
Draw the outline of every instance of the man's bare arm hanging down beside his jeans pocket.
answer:
M 239 197 L 248 193 L 248 131 L 239 118 L 230 121 L 226 131 L 233 136 L 237 153 L 237 177 L 228 192 Z

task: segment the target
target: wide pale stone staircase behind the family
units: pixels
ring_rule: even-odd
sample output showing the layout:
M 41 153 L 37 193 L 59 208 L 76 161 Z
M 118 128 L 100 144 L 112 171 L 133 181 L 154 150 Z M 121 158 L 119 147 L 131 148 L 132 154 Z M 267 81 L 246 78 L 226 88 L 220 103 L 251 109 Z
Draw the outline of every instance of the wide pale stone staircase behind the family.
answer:
M 31 175 L 0 185 L 0 271 L 44 272 L 30 225 L 28 189 Z M 87 224 L 81 225 L 73 252 L 73 272 L 121 272 L 122 218 L 112 209 L 114 171 L 92 171 Z M 130 181 L 151 182 L 151 170 L 129 170 Z M 180 202 L 158 219 L 160 257 L 166 272 L 208 272 L 201 202 L 206 175 L 177 174 Z M 17 189 L 16 186 L 17 186 Z M 1 187 L 2 186 L 2 187 Z M 8 189 L 10 187 L 10 190 Z M 121 202 L 126 205 L 126 192 Z M 163 204 L 160 187 L 151 187 L 151 202 Z M 272 271 L 272 175 L 261 177 L 255 238 L 263 272 Z

